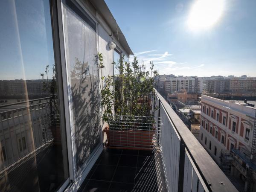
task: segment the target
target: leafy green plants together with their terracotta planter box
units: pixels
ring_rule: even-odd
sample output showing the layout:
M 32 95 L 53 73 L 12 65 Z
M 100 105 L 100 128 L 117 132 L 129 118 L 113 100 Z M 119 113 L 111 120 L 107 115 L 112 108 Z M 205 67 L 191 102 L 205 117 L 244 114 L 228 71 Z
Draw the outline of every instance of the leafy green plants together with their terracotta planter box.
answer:
M 97 55 L 100 77 L 102 119 L 108 123 L 105 128 L 108 145 L 111 147 L 150 148 L 156 135 L 154 111 L 154 84 L 158 75 L 146 71 L 143 64 L 134 61 L 113 63 L 119 70 L 116 76 L 102 76 L 103 57 Z M 154 105 L 152 105 L 154 103 Z

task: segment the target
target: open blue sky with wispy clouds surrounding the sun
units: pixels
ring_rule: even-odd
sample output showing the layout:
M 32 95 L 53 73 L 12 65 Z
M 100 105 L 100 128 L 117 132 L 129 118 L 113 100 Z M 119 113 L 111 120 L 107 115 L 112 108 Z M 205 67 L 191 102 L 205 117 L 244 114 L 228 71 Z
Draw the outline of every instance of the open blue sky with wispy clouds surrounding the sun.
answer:
M 187 24 L 196 0 L 106 0 L 139 61 L 160 74 L 256 76 L 256 0 L 224 0 L 211 28 Z

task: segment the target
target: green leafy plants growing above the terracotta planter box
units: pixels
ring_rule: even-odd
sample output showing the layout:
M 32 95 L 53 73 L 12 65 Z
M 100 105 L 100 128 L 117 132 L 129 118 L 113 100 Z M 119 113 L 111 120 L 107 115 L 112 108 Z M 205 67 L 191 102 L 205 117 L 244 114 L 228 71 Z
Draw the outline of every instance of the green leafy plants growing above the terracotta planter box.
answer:
M 103 56 L 96 55 L 99 78 L 101 105 L 104 109 L 103 120 L 114 121 L 122 116 L 153 116 L 155 106 L 152 106 L 154 98 L 154 85 L 157 84 L 157 70 L 153 62 L 150 62 L 150 70 L 146 70 L 144 64 L 139 64 L 137 57 L 130 62 L 121 58 L 113 65 L 119 71 L 115 76 L 102 76 Z

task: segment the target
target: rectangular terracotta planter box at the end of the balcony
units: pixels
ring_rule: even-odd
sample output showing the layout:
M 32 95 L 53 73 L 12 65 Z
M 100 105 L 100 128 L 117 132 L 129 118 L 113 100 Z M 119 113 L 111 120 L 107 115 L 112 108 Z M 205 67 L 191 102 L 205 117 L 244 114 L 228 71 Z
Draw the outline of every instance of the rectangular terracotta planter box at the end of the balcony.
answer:
M 108 146 L 151 149 L 155 130 L 124 130 L 105 128 Z

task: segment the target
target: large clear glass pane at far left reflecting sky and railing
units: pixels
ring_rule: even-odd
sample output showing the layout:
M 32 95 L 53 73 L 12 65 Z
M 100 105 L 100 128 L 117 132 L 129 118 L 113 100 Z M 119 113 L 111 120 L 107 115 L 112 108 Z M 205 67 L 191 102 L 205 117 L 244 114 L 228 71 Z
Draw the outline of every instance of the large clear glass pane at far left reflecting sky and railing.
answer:
M 55 191 L 68 167 L 49 0 L 0 1 L 0 23 L 0 191 Z

